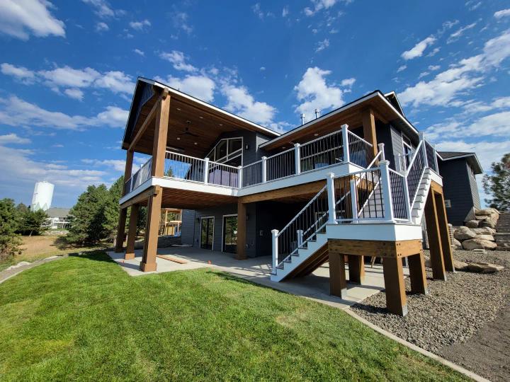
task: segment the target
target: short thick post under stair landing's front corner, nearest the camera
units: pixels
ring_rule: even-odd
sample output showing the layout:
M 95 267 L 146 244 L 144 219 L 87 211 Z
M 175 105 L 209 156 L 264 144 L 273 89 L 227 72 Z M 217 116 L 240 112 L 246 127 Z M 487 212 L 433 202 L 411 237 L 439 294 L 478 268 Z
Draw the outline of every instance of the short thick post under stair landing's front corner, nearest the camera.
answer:
M 407 315 L 402 259 L 399 257 L 385 257 L 382 262 L 382 272 L 385 279 L 387 310 L 399 316 Z

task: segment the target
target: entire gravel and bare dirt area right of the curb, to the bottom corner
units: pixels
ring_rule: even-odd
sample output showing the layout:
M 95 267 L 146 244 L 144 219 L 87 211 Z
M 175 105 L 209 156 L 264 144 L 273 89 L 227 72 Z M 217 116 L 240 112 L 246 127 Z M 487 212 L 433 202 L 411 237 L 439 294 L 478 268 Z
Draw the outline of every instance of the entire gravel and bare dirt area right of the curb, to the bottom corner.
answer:
M 454 257 L 464 262 L 492 262 L 505 269 L 496 274 L 448 273 L 446 282 L 432 280 L 431 272 L 427 272 L 427 296 L 410 294 L 406 279 L 406 317 L 387 313 L 384 291 L 351 308 L 380 328 L 466 369 L 493 381 L 507 380 L 510 253 L 458 250 Z

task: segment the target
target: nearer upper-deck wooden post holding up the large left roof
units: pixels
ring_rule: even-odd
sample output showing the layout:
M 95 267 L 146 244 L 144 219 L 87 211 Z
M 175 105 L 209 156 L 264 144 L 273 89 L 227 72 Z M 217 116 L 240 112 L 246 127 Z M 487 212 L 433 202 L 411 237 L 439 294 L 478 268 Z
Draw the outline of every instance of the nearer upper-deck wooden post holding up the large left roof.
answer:
M 154 145 L 152 146 L 152 176 L 162 177 L 164 175 L 166 137 L 168 137 L 170 116 L 170 98 L 168 89 L 164 89 L 158 102 L 156 114 Z

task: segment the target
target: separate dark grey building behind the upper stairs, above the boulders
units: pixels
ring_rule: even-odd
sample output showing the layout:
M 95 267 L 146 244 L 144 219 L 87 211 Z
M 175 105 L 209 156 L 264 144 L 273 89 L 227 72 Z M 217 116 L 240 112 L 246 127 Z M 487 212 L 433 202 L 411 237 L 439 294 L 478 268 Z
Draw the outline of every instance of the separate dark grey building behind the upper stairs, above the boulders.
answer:
M 473 207 L 480 209 L 475 175 L 483 173 L 475 153 L 438 151 L 448 223 L 462 226 Z

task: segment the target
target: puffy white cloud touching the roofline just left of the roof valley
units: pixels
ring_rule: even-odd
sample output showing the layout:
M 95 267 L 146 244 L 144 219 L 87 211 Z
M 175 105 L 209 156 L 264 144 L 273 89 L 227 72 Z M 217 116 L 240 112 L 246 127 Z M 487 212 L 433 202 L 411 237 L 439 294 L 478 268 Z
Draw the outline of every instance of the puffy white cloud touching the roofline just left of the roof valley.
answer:
M 225 84 L 222 93 L 227 98 L 225 109 L 230 112 L 262 125 L 273 122 L 276 109 L 265 102 L 256 101 L 244 86 Z

